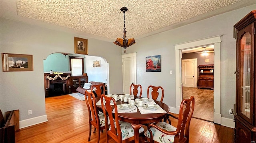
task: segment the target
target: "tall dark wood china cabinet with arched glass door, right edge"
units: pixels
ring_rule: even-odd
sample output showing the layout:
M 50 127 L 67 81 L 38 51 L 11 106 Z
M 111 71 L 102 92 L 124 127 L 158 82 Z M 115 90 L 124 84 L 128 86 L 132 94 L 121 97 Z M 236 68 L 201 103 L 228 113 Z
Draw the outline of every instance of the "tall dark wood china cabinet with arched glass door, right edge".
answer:
M 256 142 L 256 10 L 234 25 L 236 38 L 236 115 L 234 141 Z

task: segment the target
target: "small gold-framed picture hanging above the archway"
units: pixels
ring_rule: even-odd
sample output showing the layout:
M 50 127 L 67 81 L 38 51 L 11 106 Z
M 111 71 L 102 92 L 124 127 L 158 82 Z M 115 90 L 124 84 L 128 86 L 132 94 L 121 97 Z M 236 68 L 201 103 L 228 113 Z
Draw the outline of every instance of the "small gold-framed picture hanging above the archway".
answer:
M 75 37 L 75 53 L 88 55 L 88 40 Z

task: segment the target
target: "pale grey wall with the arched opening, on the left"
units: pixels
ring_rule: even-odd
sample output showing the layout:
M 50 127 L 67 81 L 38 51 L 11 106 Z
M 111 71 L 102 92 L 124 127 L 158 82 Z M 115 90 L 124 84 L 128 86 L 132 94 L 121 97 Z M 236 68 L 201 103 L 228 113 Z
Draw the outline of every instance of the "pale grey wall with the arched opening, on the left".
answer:
M 112 42 L 5 18 L 0 22 L 1 53 L 33 55 L 34 66 L 34 71 L 30 72 L 2 72 L 1 66 L 0 108 L 3 113 L 18 109 L 20 121 L 45 116 L 43 59 L 51 53 L 74 53 L 74 37 L 88 39 L 89 55 L 106 59 L 109 64 L 108 89 L 122 93 L 122 49 Z M 32 110 L 31 115 L 28 110 Z

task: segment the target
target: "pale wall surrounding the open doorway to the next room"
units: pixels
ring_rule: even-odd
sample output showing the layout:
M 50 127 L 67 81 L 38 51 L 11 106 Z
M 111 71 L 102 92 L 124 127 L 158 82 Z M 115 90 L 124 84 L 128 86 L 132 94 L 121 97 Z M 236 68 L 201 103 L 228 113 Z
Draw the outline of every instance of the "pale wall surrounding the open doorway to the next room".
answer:
M 142 85 L 146 96 L 149 85 L 164 88 L 164 102 L 175 108 L 175 49 L 174 45 L 222 35 L 221 39 L 221 114 L 233 119 L 228 109 L 233 108 L 236 95 L 236 40 L 233 38 L 233 26 L 256 5 L 248 6 L 225 14 L 214 16 L 176 29 L 165 31 L 143 39 L 127 48 L 127 53 L 137 55 L 137 84 Z M 145 57 L 161 55 L 161 72 L 146 72 Z M 170 74 L 170 70 L 173 74 Z

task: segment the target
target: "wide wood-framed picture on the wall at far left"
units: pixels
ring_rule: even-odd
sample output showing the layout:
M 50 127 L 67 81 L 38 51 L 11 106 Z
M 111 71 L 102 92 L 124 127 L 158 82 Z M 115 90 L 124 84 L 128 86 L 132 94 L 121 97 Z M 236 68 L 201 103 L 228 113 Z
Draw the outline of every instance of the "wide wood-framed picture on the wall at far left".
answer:
M 33 55 L 2 53 L 3 71 L 33 71 Z

